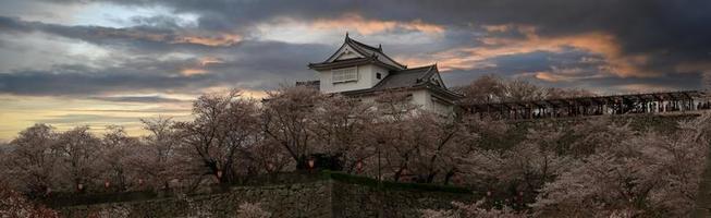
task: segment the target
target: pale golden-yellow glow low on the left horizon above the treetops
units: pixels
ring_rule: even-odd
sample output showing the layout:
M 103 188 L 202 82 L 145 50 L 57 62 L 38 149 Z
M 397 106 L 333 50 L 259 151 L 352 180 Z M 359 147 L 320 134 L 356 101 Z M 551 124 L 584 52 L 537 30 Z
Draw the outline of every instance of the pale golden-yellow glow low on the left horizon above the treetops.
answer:
M 91 132 L 101 134 L 107 125 L 122 125 L 133 136 L 144 135 L 139 119 L 172 117 L 175 120 L 191 118 L 191 102 L 111 102 L 68 97 L 27 97 L 0 95 L 4 102 L 0 109 L 0 140 L 10 141 L 16 134 L 34 125 L 46 123 L 57 131 L 88 125 Z M 47 110 L 46 108 L 51 108 Z

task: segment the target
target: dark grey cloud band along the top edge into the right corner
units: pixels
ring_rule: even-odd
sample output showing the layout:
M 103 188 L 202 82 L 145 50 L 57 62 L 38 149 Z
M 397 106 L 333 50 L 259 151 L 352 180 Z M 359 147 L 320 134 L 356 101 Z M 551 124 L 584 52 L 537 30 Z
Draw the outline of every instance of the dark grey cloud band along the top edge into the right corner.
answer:
M 86 1 L 82 1 L 86 2 Z M 711 59 L 711 1 L 706 0 L 478 0 L 478 1 L 199 1 L 128 0 L 200 15 L 200 28 L 245 29 L 274 17 L 334 19 L 344 13 L 385 21 L 421 20 L 454 28 L 530 25 L 542 37 L 602 32 L 623 55 L 645 56 L 642 71 L 667 73 L 681 64 Z M 697 64 L 698 65 L 698 64 Z M 702 64 L 701 64 L 702 65 Z M 690 69 L 701 71 L 704 69 Z

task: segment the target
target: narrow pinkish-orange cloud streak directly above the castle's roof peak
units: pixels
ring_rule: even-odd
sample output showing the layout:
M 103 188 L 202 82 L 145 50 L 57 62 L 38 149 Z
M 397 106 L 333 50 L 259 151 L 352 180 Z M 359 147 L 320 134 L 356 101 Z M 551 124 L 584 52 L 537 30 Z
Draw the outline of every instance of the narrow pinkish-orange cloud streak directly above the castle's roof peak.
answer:
M 428 24 L 420 20 L 414 20 L 410 22 L 379 21 L 379 20 L 368 20 L 355 13 L 345 14 L 339 19 L 316 20 L 311 24 L 311 26 L 314 28 L 326 28 L 326 29 L 350 27 L 350 28 L 354 28 L 354 31 L 363 35 L 381 33 L 394 28 L 417 31 L 427 34 L 441 34 L 442 32 L 444 32 L 444 27 L 434 24 Z

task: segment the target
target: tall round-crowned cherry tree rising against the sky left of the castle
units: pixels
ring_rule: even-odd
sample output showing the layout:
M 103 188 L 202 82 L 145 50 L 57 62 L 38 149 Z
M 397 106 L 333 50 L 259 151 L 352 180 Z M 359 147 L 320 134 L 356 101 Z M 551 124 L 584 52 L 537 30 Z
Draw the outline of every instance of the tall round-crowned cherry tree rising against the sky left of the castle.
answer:
M 259 140 L 257 102 L 237 90 L 208 94 L 194 102 L 193 114 L 195 120 L 175 124 L 184 150 L 205 174 L 235 182 L 237 159 Z

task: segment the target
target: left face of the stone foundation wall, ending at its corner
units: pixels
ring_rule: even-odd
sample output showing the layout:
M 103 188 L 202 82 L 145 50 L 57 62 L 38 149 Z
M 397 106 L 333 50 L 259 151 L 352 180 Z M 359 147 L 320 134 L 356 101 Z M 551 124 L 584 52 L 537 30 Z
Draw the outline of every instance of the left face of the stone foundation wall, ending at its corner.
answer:
M 331 181 L 236 186 L 221 194 L 60 208 L 62 217 L 235 217 L 242 203 L 259 203 L 272 217 L 332 217 Z

